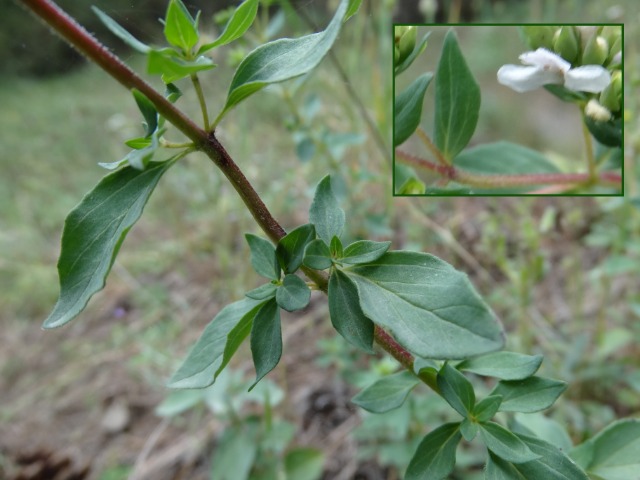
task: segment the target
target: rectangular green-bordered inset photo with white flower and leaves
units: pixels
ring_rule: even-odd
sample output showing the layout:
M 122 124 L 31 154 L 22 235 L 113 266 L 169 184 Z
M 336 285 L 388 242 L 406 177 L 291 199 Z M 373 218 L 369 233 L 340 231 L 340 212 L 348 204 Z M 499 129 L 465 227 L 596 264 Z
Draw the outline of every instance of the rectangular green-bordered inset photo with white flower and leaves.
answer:
M 394 196 L 623 195 L 622 24 L 394 25 Z

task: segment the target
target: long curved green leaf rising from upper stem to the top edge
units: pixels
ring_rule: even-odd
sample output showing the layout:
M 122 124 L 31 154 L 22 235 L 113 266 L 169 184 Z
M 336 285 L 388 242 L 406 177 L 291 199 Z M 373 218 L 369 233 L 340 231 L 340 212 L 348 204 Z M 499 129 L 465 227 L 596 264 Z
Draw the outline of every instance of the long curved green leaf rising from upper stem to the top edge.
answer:
M 340 2 L 326 30 L 296 39 L 275 40 L 247 55 L 231 80 L 227 101 L 217 121 L 233 106 L 265 86 L 313 70 L 337 38 L 348 3 L 348 0 Z

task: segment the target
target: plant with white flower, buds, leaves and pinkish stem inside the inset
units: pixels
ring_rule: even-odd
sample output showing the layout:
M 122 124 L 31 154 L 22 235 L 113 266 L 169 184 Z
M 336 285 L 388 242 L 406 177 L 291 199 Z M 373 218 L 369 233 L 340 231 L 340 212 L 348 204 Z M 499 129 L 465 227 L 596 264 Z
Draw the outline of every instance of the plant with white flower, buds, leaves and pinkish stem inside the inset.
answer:
M 483 28 L 511 33 L 502 33 L 505 27 L 495 25 Z M 426 48 L 431 31 L 418 42 L 416 30 L 414 25 L 395 26 L 396 77 Z M 478 125 L 482 94 L 457 35 L 450 30 L 436 71 L 421 73 L 395 97 L 396 194 L 621 194 L 622 26 L 524 25 L 520 33 L 531 51 L 520 55 L 523 65 L 502 66 L 496 80 L 521 93 L 544 87 L 559 101 L 578 108 L 583 168 L 563 170 L 547 155 L 506 140 L 466 148 Z M 434 111 L 426 112 L 433 115 L 429 135 L 421 122 L 425 94 L 433 82 Z M 523 98 L 522 109 L 526 108 Z M 401 147 L 414 135 L 426 154 Z M 436 180 L 427 185 L 415 169 L 435 174 Z

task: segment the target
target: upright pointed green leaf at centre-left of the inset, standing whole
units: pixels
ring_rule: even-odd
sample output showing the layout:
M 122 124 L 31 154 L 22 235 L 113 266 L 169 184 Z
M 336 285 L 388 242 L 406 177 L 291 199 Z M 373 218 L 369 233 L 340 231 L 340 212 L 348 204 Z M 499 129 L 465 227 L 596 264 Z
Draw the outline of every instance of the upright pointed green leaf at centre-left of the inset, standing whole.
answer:
M 480 87 L 453 30 L 444 39 L 438 62 L 435 109 L 435 144 L 452 159 L 469 143 L 480 112 Z

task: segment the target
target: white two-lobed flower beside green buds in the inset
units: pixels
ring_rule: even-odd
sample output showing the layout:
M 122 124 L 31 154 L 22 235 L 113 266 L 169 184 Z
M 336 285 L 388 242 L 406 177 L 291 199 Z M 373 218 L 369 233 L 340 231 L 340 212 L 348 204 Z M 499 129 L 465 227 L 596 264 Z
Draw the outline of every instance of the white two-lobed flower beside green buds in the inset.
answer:
M 570 90 L 598 93 L 611 82 L 611 74 L 600 65 L 571 68 L 564 58 L 539 48 L 520 55 L 523 65 L 503 65 L 498 70 L 498 82 L 515 90 L 528 92 L 543 85 L 564 85 Z

